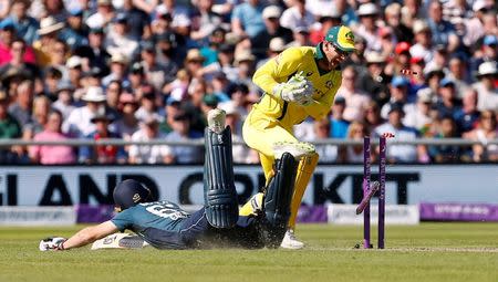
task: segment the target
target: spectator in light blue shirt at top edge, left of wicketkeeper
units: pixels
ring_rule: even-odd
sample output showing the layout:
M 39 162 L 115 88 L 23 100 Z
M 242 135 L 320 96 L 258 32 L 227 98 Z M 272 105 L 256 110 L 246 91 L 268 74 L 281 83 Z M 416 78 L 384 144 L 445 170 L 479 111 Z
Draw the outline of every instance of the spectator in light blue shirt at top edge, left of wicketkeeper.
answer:
M 261 0 L 248 0 L 237 4 L 231 13 L 231 31 L 235 34 L 253 39 L 264 30 Z

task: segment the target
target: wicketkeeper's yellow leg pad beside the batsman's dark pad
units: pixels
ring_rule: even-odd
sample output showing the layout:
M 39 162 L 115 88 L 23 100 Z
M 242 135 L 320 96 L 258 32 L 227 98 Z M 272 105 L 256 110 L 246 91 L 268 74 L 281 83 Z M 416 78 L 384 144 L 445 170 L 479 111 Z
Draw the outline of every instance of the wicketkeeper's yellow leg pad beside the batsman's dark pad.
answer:
M 307 190 L 311 176 L 319 161 L 319 154 L 311 153 L 301 158 L 295 175 L 294 195 L 292 196 L 291 217 L 289 219 L 289 228 L 295 228 L 295 220 L 298 218 L 299 207 L 301 206 L 302 196 Z

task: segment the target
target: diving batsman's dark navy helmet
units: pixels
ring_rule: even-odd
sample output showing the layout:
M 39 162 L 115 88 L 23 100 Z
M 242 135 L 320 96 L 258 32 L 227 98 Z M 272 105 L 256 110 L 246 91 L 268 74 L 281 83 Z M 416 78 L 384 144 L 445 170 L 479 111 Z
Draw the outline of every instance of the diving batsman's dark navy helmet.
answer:
M 137 180 L 126 179 L 114 188 L 114 205 L 118 211 L 145 202 L 151 197 L 151 190 Z

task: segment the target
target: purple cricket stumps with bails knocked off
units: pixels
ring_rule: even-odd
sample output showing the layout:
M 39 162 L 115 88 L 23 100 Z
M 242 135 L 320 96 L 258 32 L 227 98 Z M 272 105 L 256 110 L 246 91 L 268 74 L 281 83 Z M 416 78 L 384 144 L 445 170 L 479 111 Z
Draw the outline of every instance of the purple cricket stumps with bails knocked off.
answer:
M 377 248 L 384 249 L 385 236 L 385 163 L 386 137 L 381 136 L 378 142 L 378 182 L 371 184 L 371 143 L 370 136 L 363 138 L 363 200 L 356 208 L 356 215 L 363 211 L 363 248 L 371 249 L 370 243 L 370 199 L 378 190 L 378 237 Z

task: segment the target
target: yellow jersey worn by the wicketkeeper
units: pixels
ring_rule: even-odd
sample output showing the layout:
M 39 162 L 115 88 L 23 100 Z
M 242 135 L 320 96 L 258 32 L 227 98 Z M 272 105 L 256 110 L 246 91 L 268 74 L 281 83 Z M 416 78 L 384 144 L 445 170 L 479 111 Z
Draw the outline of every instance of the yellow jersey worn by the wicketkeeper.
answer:
M 341 86 L 342 73 L 340 69 L 336 69 L 320 74 L 315 62 L 315 52 L 317 49 L 312 46 L 289 48 L 258 69 L 252 80 L 264 91 L 264 95 L 259 103 L 253 105 L 253 111 L 263 114 L 267 118 L 279 121 L 280 125 L 289 130 L 308 116 L 315 119 L 325 117 L 331 109 L 335 93 Z M 278 83 L 287 82 L 300 71 L 313 84 L 314 101 L 308 106 L 286 102 L 272 94 L 273 87 Z

